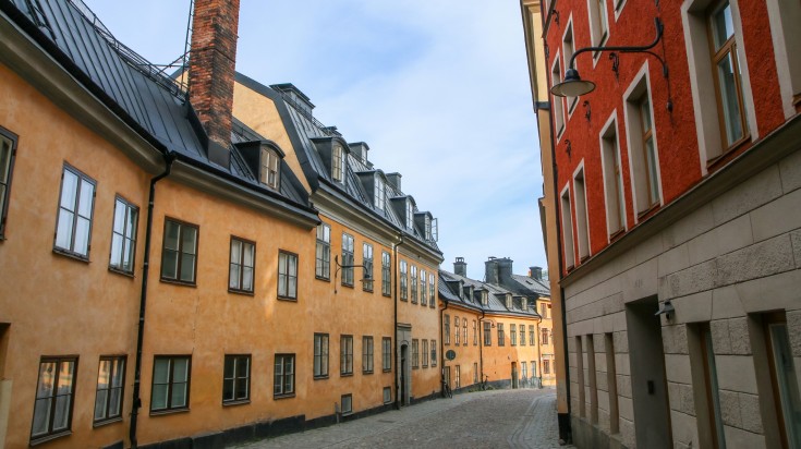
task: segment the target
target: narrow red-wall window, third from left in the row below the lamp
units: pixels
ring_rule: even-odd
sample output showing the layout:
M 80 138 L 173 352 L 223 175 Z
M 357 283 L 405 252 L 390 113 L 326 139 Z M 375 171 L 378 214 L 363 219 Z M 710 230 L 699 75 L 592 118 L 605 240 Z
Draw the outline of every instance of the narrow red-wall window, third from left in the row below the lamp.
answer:
M 620 145 L 617 136 L 615 116 L 600 132 L 600 158 L 604 170 L 604 192 L 606 195 L 606 229 L 615 235 L 626 226 L 626 201 L 623 179 L 620 170 Z

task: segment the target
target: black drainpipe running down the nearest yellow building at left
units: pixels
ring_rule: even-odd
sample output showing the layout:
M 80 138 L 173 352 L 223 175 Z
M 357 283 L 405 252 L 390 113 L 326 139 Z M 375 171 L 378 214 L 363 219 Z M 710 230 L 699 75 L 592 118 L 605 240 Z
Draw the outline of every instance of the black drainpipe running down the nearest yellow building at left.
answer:
M 131 448 L 136 449 L 136 423 L 142 406 L 142 398 L 139 398 L 139 384 L 142 371 L 142 347 L 145 340 L 145 306 L 147 305 L 147 278 L 150 271 L 150 241 L 153 234 L 153 206 L 156 201 L 156 183 L 170 175 L 172 162 L 175 160 L 175 154 L 170 151 L 165 155 L 165 171 L 158 177 L 150 180 L 150 195 L 147 199 L 147 228 L 145 230 L 145 256 L 142 267 L 142 295 L 139 296 L 139 321 L 136 335 L 136 367 L 134 371 L 133 401 L 131 406 L 131 428 L 129 438 L 131 439 Z

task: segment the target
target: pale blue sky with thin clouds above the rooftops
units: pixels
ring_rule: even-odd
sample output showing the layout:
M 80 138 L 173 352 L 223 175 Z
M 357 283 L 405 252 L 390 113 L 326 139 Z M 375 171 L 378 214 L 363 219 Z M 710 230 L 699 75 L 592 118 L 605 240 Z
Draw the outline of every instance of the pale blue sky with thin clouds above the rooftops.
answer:
M 189 0 L 84 0 L 153 63 L 184 51 Z M 542 196 L 520 4 L 513 0 L 241 0 L 236 71 L 292 83 L 314 116 L 439 223 L 441 268 L 510 257 L 545 267 Z M 269 137 L 269 136 L 267 136 Z

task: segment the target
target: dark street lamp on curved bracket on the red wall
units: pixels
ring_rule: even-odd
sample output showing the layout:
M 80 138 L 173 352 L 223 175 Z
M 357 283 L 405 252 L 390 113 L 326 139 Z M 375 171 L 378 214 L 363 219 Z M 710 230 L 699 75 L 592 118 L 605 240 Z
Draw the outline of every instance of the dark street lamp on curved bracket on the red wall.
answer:
M 556 95 L 557 97 L 579 97 L 581 95 L 586 95 L 595 90 L 595 83 L 593 83 L 592 81 L 582 80 L 581 76 L 579 75 L 579 71 L 574 69 L 575 68 L 575 57 L 578 57 L 581 53 L 585 53 L 587 51 L 594 51 L 594 52 L 619 51 L 621 53 L 647 53 L 656 58 L 662 63 L 663 75 L 665 75 L 665 78 L 668 80 L 667 110 L 672 111 L 673 104 L 670 98 L 670 80 L 668 78 L 667 62 L 665 62 L 665 60 L 662 59 L 658 54 L 651 51 L 651 49 L 656 47 L 659 40 L 662 40 L 662 35 L 663 35 L 665 27 L 663 26 L 659 17 L 654 19 L 654 24 L 656 25 L 656 38 L 650 45 L 638 46 L 638 47 L 620 47 L 620 46 L 584 47 L 584 48 L 577 50 L 573 53 L 573 56 L 570 58 L 570 64 L 568 64 L 569 69 L 567 70 L 567 72 L 565 72 L 565 81 L 554 85 L 554 87 L 550 88 L 550 93 Z M 665 43 L 663 41 L 663 53 L 664 53 L 664 45 Z M 612 68 L 615 66 L 616 65 L 612 65 Z

